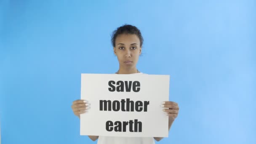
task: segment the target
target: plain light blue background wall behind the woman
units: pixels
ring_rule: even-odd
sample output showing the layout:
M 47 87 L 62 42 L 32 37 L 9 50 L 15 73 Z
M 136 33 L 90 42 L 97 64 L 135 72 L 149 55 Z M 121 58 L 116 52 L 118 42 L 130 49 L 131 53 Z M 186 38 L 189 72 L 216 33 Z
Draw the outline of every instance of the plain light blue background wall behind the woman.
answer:
M 171 75 L 179 116 L 159 144 L 256 144 L 255 0 L 0 0 L 2 144 L 96 144 L 72 101 L 114 73 L 110 36 L 144 36 L 138 69 Z

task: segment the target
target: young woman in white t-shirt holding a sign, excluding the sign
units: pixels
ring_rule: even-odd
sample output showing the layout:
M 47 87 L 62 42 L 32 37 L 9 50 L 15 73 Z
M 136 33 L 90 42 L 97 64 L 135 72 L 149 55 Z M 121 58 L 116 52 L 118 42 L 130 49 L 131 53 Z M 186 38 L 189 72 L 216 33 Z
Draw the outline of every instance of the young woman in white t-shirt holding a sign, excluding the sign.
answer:
M 114 53 L 119 61 L 119 69 L 116 74 L 136 74 L 142 75 L 142 72 L 136 68 L 136 64 L 141 55 L 143 37 L 140 30 L 132 25 L 123 25 L 118 27 L 112 35 L 112 45 Z M 179 113 L 179 106 L 173 101 L 163 102 L 163 112 L 169 117 L 169 130 L 175 118 Z M 73 101 L 72 110 L 80 118 L 89 109 L 89 104 L 84 100 Z M 89 136 L 93 141 L 99 138 L 98 144 L 155 144 L 162 137 L 112 137 L 112 136 Z

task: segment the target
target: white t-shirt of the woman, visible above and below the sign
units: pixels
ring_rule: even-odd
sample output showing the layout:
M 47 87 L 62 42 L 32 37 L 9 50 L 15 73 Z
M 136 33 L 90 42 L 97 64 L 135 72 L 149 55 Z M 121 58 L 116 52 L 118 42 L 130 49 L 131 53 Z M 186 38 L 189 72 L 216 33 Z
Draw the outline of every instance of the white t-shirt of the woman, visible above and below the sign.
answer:
M 134 74 L 144 74 L 144 73 L 139 72 Z M 155 140 L 153 137 L 99 136 L 97 144 L 155 144 Z

